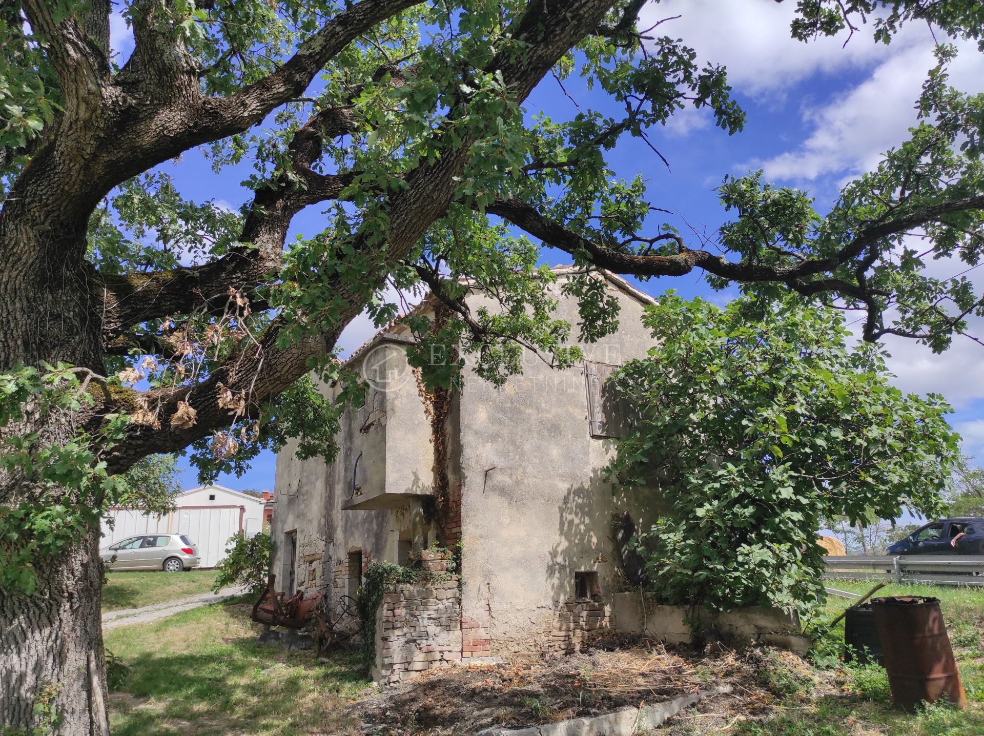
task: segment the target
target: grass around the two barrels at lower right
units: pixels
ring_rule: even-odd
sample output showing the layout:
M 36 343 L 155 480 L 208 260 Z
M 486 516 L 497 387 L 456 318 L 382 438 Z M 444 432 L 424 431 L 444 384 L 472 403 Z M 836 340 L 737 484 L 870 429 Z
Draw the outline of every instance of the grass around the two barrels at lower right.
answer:
M 864 593 L 874 582 L 836 581 L 841 590 Z M 984 734 L 984 590 L 929 585 L 890 585 L 876 595 L 933 595 L 940 598 L 968 708 L 937 704 L 915 715 L 892 708 L 885 670 L 879 666 L 815 669 L 808 676 L 770 673 L 785 693 L 780 714 L 765 721 L 738 721 L 735 736 L 969 736 Z M 850 601 L 831 597 L 833 615 Z M 843 641 L 843 624 L 836 637 Z

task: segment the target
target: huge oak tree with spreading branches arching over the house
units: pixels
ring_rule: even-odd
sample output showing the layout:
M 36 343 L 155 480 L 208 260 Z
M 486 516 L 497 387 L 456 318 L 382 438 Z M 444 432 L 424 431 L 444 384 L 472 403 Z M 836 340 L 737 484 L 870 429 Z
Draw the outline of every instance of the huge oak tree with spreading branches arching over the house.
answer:
M 473 353 L 492 381 L 519 369 L 523 345 L 578 357 L 551 317 L 541 244 L 585 267 L 697 270 L 764 299 L 859 309 L 870 340 L 943 349 L 966 330 L 981 310 L 969 282 L 921 273 L 932 256 L 976 264 L 984 247 L 984 101 L 948 87 L 953 51 L 911 139 L 828 215 L 761 177 L 728 180 L 734 221 L 705 248 L 646 224 L 648 172 L 620 181 L 606 163 L 683 105 L 729 132 L 744 122 L 724 70 L 638 28 L 642 5 L 125 0 L 135 45 L 120 59 L 109 0 L 0 3 L 5 725 L 107 733 L 96 520 L 133 492 L 122 474 L 189 446 L 206 473 L 287 436 L 330 452 L 338 408 L 305 377 L 337 376 L 338 336 L 365 308 L 396 315 L 388 286 L 432 290 L 449 316 L 428 338 Z M 909 22 L 977 38 L 982 15 L 974 0 L 801 0 L 791 32 L 866 20 L 882 42 Z M 545 77 L 572 74 L 605 110 L 523 108 Z M 182 198 L 158 168 L 196 148 L 216 169 L 255 161 L 242 212 Z M 287 243 L 306 208 L 323 230 Z M 469 312 L 462 276 L 502 311 Z M 597 281 L 567 288 L 583 337 L 616 327 Z

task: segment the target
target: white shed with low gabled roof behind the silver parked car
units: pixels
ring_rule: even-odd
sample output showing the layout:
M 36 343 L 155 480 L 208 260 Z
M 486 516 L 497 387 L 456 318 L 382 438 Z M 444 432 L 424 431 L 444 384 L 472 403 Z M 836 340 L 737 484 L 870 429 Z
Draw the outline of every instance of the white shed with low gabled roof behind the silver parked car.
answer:
M 197 545 L 202 567 L 214 568 L 225 556 L 229 537 L 240 529 L 251 537 L 263 528 L 267 501 L 231 488 L 203 485 L 179 493 L 174 500 L 177 510 L 162 517 L 111 509 L 107 517 L 115 522 L 110 529 L 102 520 L 101 546 L 135 534 L 185 534 Z

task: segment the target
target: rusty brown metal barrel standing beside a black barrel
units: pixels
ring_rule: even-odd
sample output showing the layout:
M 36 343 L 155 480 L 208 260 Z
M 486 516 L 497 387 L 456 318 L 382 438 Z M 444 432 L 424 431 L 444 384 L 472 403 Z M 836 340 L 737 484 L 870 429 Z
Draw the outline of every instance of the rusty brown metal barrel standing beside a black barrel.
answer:
M 940 599 L 917 595 L 872 598 L 895 705 L 913 711 L 920 701 L 967 700 L 956 671 Z

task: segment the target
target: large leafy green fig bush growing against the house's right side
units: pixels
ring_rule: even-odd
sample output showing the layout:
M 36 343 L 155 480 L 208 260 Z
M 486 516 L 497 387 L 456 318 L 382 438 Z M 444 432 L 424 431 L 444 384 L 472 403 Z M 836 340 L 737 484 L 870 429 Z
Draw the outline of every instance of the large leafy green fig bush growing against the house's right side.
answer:
M 616 375 L 640 416 L 609 474 L 669 505 L 640 534 L 667 603 L 806 612 L 824 597 L 822 519 L 940 511 L 950 406 L 893 388 L 882 353 L 848 350 L 837 312 L 670 293 L 644 322 L 657 345 Z

